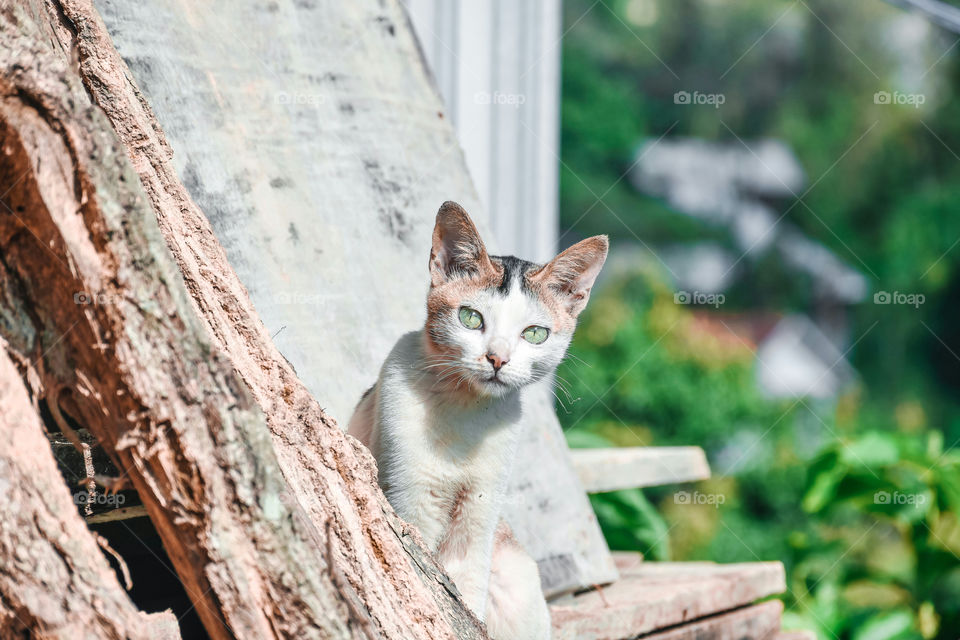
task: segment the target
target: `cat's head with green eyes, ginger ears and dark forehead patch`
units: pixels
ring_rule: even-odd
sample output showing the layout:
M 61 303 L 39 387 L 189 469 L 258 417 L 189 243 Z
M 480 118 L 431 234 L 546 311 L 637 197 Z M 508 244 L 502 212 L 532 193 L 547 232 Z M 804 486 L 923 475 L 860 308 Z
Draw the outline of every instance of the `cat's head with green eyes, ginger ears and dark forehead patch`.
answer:
M 503 395 L 549 375 L 607 257 L 607 237 L 545 265 L 487 253 L 455 202 L 437 213 L 427 295 L 428 366 L 445 386 Z

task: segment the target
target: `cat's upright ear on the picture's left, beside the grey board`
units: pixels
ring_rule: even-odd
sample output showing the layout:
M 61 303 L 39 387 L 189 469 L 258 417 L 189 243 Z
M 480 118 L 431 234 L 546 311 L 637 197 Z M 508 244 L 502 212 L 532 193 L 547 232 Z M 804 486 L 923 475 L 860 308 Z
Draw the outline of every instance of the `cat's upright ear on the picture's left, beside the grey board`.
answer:
M 431 284 L 494 270 L 477 227 L 463 207 L 449 200 L 440 205 L 430 249 Z

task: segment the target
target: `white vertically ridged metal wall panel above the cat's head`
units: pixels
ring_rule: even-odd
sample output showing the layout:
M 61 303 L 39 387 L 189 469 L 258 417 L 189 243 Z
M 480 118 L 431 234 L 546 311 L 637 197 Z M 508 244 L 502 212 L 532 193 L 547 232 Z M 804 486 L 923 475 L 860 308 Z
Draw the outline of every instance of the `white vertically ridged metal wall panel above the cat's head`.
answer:
M 487 208 L 496 251 L 551 258 L 559 228 L 560 0 L 404 4 Z

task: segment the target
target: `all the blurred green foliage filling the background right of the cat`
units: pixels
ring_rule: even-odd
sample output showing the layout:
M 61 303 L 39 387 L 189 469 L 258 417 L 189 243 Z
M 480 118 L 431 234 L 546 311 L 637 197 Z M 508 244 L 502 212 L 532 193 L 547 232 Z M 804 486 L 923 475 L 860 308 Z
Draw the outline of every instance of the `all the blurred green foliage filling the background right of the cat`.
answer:
M 674 304 L 652 256 L 608 277 L 558 372 L 568 440 L 699 445 L 715 474 L 593 496 L 611 547 L 781 560 L 785 620 L 825 639 L 960 637 L 957 36 L 931 27 L 904 40 L 922 20 L 879 0 L 564 5 L 562 244 L 607 233 L 614 255 L 703 240 L 739 255 L 726 232 L 624 176 L 645 139 L 772 137 L 812 185 L 802 202 L 771 203 L 790 208 L 784 221 L 874 290 L 926 299 L 875 305 L 871 293 L 850 309 L 859 385 L 835 401 L 784 401 L 759 393 L 755 345 L 724 326 L 816 306 L 811 283 L 774 256 L 741 263 L 730 316 Z M 676 105 L 681 90 L 726 102 Z M 926 103 L 880 105 L 878 91 Z M 679 490 L 719 500 L 681 503 Z

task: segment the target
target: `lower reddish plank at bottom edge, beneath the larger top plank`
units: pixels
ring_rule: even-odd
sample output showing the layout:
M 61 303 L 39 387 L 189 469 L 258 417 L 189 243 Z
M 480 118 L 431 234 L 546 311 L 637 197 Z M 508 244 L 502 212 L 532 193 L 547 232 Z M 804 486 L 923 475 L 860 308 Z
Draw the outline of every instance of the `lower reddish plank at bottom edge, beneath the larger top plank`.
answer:
M 771 600 L 659 631 L 643 640 L 772 640 L 780 631 L 783 603 Z

